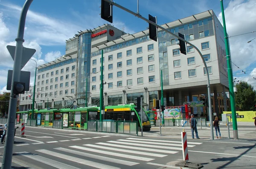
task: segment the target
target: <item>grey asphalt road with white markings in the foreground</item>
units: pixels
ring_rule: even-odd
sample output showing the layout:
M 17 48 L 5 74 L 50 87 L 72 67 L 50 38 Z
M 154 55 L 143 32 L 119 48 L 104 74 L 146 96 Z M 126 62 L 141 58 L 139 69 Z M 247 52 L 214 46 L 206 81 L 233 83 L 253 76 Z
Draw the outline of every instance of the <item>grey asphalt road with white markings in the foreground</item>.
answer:
M 181 139 L 39 127 L 26 127 L 25 138 L 19 133 L 12 158 L 13 168 L 19 169 L 180 169 L 175 163 L 183 160 Z M 189 162 L 201 163 L 205 169 L 253 169 L 255 143 L 255 139 L 191 139 Z M 3 149 L 4 144 L 0 161 Z

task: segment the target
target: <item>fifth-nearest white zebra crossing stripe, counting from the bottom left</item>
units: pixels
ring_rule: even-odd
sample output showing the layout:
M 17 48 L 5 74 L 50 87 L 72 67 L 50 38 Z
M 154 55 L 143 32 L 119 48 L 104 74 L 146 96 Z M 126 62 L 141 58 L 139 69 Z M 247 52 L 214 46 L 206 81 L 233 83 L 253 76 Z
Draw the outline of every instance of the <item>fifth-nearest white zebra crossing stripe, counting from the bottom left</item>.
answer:
M 128 150 L 128 149 L 116 149 L 116 148 L 113 148 L 113 147 L 97 146 L 97 145 L 93 145 L 93 144 L 84 144 L 84 146 L 96 147 L 96 148 L 100 148 L 100 149 L 109 149 L 109 150 L 118 151 L 118 152 L 128 152 L 128 153 L 145 155 L 145 152 L 138 152 L 138 151 L 133 151 L 133 150 Z M 167 155 L 162 155 L 162 154 L 154 154 L 154 153 L 150 153 L 150 152 L 147 152 L 147 155 L 154 156 L 154 157 L 165 157 L 165 156 L 167 156 Z

